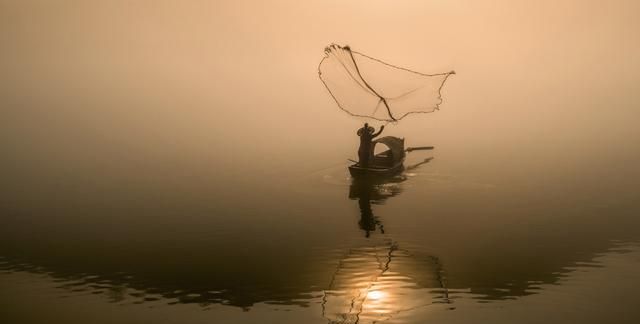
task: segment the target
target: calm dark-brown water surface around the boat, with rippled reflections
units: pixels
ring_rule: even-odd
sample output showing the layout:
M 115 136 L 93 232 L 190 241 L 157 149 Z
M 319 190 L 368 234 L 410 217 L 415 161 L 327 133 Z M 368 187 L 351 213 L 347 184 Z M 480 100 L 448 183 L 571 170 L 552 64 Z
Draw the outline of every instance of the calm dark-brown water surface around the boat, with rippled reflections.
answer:
M 409 164 L 419 154 L 435 158 L 382 182 L 354 182 L 344 164 L 290 178 L 262 174 L 268 181 L 256 186 L 225 182 L 224 199 L 200 180 L 204 188 L 189 195 L 101 188 L 79 201 L 58 189 L 50 203 L 9 208 L 3 316 L 638 319 L 638 197 L 613 189 L 631 180 L 527 184 L 531 171 L 488 181 L 452 170 L 437 151 L 411 154 Z M 88 310 L 78 318 L 77 308 Z M 593 309 L 598 316 L 586 315 Z

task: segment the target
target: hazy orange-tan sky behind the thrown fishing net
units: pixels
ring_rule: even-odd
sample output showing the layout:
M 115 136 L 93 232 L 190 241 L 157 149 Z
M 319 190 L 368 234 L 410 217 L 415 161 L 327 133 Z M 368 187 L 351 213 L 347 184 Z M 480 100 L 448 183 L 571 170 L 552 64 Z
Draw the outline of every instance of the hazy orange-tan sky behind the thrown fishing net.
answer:
M 361 121 L 317 78 L 332 42 L 458 72 L 441 111 L 389 134 L 629 154 L 637 12 L 637 1 L 2 1 L 5 162 L 351 154 Z

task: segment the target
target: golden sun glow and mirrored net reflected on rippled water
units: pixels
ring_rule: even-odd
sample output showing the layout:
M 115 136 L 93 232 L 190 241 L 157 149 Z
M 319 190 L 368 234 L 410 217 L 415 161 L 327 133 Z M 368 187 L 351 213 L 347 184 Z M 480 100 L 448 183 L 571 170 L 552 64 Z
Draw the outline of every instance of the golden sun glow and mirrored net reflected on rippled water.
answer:
M 324 291 L 322 313 L 329 323 L 380 323 L 449 302 L 446 291 L 437 258 L 418 257 L 395 242 L 380 240 L 350 249 L 338 262 Z

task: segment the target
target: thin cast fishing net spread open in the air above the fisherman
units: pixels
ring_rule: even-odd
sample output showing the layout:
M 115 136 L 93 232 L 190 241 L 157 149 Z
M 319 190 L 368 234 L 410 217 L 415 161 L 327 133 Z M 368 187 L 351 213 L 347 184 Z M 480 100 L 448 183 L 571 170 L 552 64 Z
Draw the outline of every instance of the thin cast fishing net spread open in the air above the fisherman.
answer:
M 420 73 L 332 44 L 325 48 L 318 74 L 348 114 L 396 122 L 437 110 L 442 103 L 440 91 L 455 72 Z

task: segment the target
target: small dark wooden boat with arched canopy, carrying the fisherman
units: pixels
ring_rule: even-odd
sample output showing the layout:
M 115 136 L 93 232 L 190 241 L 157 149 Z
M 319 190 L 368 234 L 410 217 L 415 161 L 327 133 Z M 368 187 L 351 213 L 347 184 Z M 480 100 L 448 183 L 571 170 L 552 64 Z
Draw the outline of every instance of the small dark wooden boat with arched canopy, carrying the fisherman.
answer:
M 387 146 L 387 150 L 373 156 L 367 167 L 354 163 L 349 166 L 352 177 L 361 176 L 392 176 L 404 170 L 404 138 L 393 136 L 382 137 L 372 142 L 372 150 L 377 144 Z

